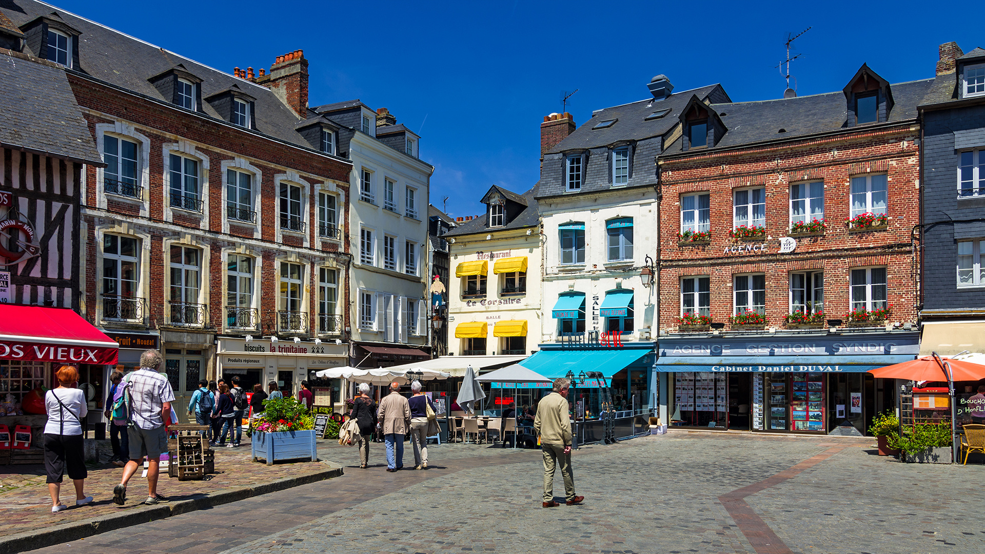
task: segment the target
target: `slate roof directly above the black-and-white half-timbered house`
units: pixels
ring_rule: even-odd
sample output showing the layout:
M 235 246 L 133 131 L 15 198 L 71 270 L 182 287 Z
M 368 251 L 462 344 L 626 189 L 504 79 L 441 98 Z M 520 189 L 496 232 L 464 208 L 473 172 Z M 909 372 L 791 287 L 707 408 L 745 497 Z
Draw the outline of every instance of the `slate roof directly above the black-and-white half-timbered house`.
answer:
M 0 55 L 0 144 L 103 166 L 61 66 Z

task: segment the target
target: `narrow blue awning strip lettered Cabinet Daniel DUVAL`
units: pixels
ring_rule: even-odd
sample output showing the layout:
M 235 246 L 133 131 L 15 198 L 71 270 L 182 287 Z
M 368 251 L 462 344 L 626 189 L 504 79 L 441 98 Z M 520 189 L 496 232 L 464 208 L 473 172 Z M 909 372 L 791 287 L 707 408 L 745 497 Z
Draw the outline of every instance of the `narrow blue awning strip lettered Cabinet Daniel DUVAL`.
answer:
M 865 373 L 908 362 L 912 354 L 882 356 L 665 356 L 658 372 Z M 700 363 L 699 362 L 703 362 Z

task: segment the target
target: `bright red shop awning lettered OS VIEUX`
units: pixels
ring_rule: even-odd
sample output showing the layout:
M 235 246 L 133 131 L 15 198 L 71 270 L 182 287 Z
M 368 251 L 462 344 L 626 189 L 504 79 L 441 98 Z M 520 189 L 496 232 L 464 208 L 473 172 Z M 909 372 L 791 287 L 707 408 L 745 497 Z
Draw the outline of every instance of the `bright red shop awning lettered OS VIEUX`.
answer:
M 118 349 L 66 308 L 0 304 L 0 358 L 5 360 L 113 365 Z

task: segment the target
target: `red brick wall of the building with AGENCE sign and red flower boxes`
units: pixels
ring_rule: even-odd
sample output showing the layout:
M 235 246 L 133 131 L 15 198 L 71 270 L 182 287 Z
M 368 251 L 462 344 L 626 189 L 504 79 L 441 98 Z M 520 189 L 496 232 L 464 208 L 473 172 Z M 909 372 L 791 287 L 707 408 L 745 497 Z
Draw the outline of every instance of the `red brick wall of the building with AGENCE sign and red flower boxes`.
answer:
M 759 147 L 726 153 L 699 153 L 664 159 L 660 202 L 660 328 L 674 329 L 681 313 L 682 276 L 711 278 L 711 317 L 728 322 L 733 313 L 732 276 L 765 273 L 766 319 L 769 326 L 784 326 L 790 312 L 789 273 L 824 271 L 825 318 L 842 318 L 849 311 L 849 269 L 886 266 L 891 321 L 916 320 L 915 256 L 911 230 L 919 221 L 918 148 L 916 131 L 908 125 L 889 130 L 861 130 L 838 137 L 792 141 L 777 147 Z M 849 232 L 850 180 L 866 173 L 886 173 L 888 179 L 885 231 Z M 794 252 L 780 254 L 778 239 L 786 237 L 790 219 L 790 184 L 824 181 L 824 219 L 821 237 L 797 238 Z M 765 187 L 765 242 L 743 242 L 729 237 L 733 227 L 733 191 Z M 711 242 L 681 245 L 680 197 L 708 191 Z M 795 237 L 796 238 L 796 237 Z M 733 245 L 764 244 L 766 253 L 726 254 Z

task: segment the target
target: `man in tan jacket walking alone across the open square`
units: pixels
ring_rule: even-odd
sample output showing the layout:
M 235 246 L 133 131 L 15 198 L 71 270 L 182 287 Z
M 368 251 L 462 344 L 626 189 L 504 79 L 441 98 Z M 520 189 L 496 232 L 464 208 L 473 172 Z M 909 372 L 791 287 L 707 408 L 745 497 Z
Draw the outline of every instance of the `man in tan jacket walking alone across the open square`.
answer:
M 571 381 L 556 379 L 554 392 L 537 404 L 534 430 L 541 438 L 544 451 L 544 508 L 554 508 L 554 470 L 560 462 L 564 479 L 564 500 L 568 506 L 580 504 L 583 496 L 574 496 L 574 475 L 571 473 L 571 420 L 567 415 L 567 387 Z

